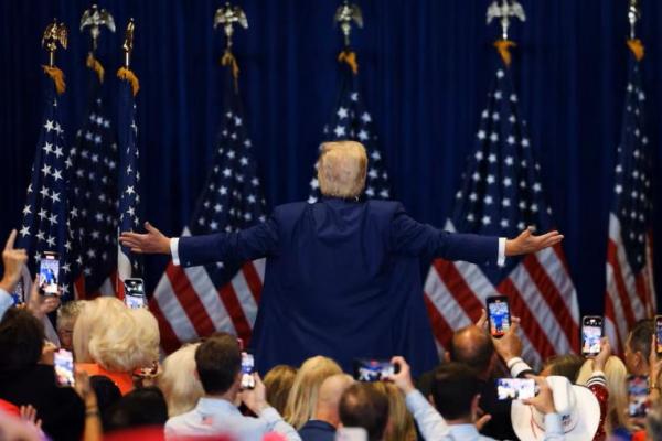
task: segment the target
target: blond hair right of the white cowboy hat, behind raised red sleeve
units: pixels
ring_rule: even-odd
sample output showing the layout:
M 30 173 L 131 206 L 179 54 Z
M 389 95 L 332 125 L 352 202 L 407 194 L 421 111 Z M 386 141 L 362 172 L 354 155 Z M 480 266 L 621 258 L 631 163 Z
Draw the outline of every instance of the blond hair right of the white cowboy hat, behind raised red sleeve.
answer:
M 579 369 L 577 384 L 586 385 L 592 370 L 594 361 L 587 359 Z M 607 435 L 611 435 L 617 428 L 631 429 L 628 417 L 628 368 L 619 357 L 612 355 L 605 363 L 605 377 L 607 379 L 607 390 L 609 390 L 605 431 Z

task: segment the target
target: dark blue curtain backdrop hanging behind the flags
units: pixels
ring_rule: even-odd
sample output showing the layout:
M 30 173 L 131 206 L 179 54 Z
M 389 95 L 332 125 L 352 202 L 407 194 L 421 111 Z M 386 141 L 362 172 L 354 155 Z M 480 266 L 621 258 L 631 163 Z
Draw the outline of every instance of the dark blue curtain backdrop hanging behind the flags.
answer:
M 418 219 L 442 226 L 451 213 L 465 158 L 493 74 L 484 24 L 488 0 L 356 0 L 365 28 L 353 34 L 360 75 L 399 200 Z M 602 313 L 608 212 L 615 149 L 626 87 L 624 0 L 521 0 L 527 13 L 512 37 L 523 115 L 543 166 L 544 186 L 584 313 Z M 42 112 L 45 61 L 41 32 L 57 17 L 71 31 L 58 51 L 65 72 L 66 135 L 85 107 L 78 32 L 82 0 L 0 2 L 0 236 L 20 222 Z M 146 216 L 167 234 L 188 222 L 207 172 L 220 121 L 223 37 L 212 17 L 224 0 L 100 0 L 118 33 L 104 33 L 99 58 L 109 95 L 121 62 L 126 21 L 136 19 L 132 67 L 140 77 L 139 147 Z M 321 131 L 335 99 L 341 39 L 332 17 L 340 0 L 241 0 L 250 28 L 239 30 L 235 54 L 241 89 L 269 205 L 308 194 Z M 648 132 L 662 170 L 662 2 L 642 0 L 640 36 L 647 45 Z M 662 240 L 661 182 L 655 184 L 658 243 Z M 658 248 L 658 292 L 662 254 Z M 164 259 L 148 259 L 153 286 Z

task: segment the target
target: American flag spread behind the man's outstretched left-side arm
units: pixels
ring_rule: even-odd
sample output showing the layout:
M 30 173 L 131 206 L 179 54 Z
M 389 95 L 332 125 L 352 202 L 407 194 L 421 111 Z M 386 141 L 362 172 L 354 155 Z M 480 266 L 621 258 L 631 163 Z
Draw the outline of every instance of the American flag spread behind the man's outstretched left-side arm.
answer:
M 221 131 L 212 168 L 183 236 L 236 232 L 266 219 L 257 163 L 232 66 L 224 68 L 224 80 Z M 248 342 L 265 261 L 241 263 L 225 261 L 192 268 L 168 265 L 149 302 L 166 352 L 215 331 Z

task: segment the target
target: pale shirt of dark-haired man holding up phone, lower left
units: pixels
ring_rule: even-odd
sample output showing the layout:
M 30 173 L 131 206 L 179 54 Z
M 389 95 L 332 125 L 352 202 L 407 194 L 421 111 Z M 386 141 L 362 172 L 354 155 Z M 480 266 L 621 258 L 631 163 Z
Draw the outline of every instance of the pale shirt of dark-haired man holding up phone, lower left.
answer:
M 259 418 L 244 417 L 232 402 L 221 398 L 201 398 L 195 409 L 166 422 L 166 439 L 226 434 L 242 441 L 261 441 L 265 434 L 278 432 L 288 441 L 301 441 L 290 424 L 273 407 Z

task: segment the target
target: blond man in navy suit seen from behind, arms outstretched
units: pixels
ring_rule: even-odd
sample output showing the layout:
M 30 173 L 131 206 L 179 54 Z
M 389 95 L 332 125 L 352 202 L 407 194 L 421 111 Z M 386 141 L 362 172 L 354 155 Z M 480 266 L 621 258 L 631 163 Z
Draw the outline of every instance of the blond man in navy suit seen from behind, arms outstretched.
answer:
M 237 233 L 168 238 L 122 233 L 135 252 L 170 254 L 185 267 L 267 258 L 255 323 L 256 367 L 298 366 L 325 355 L 350 370 L 356 357 L 403 355 L 415 374 L 438 364 L 423 301 L 420 261 L 436 257 L 482 266 L 535 252 L 557 232 L 517 238 L 452 234 L 420 224 L 393 201 L 360 200 L 367 158 L 359 142 L 328 142 L 318 162 L 323 197 L 277 206 L 267 222 Z

